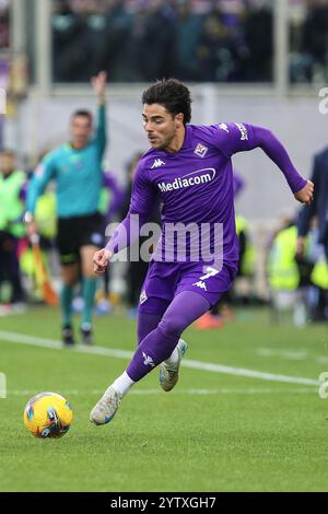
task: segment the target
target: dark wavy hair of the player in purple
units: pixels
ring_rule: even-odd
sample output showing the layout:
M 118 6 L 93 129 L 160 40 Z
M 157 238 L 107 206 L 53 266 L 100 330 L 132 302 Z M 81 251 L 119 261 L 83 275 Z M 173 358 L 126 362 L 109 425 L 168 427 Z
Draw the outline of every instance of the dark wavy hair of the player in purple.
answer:
M 176 79 L 163 79 L 150 85 L 142 94 L 142 103 L 147 105 L 160 104 L 176 116 L 184 115 L 184 124 L 191 119 L 191 95 L 188 87 Z

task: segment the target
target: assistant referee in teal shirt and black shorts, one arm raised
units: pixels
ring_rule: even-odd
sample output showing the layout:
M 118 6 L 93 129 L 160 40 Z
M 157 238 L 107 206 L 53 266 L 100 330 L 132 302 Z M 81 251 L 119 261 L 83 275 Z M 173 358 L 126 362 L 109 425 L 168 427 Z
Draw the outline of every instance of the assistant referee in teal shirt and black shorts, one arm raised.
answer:
M 99 230 L 99 195 L 104 184 L 102 161 L 106 148 L 105 87 L 106 73 L 92 79 L 98 102 L 97 129 L 93 133 L 93 117 L 87 110 L 78 110 L 71 117 L 71 141 L 47 154 L 35 171 L 27 191 L 30 235 L 37 232 L 34 222 L 36 200 L 52 179 L 57 186 L 58 249 L 61 261 L 62 341 L 73 344 L 71 324 L 73 287 L 82 274 L 84 307 L 81 335 L 85 344 L 92 342 L 92 309 L 96 290 L 93 255 L 103 246 Z

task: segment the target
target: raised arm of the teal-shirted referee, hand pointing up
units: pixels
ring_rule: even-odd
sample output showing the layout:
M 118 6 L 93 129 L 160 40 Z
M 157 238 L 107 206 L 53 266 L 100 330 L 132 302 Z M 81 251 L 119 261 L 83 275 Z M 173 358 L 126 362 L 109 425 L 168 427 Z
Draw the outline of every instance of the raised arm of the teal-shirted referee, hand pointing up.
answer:
M 98 114 L 97 126 L 94 142 L 98 150 L 99 159 L 103 157 L 107 144 L 107 124 L 106 124 L 106 79 L 105 71 L 101 71 L 91 80 L 93 91 L 97 98 Z

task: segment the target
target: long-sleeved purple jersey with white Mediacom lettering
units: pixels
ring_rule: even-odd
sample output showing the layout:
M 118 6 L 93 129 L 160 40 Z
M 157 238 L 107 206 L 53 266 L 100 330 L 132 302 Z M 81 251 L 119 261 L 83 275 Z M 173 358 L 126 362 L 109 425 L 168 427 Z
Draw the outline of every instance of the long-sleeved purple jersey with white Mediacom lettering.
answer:
M 141 223 L 144 223 L 154 201 L 160 196 L 163 205 L 162 241 L 160 248 L 157 247 L 155 252 L 155 258 L 163 260 L 164 257 L 166 261 L 181 260 L 176 254 L 176 235 L 172 235 L 171 232 L 172 241 L 167 241 L 169 225 L 180 223 L 184 224 L 183 230 L 185 230 L 190 223 L 196 224 L 199 227 L 198 235 L 201 234 L 201 226 L 208 226 L 212 253 L 214 225 L 221 224 L 223 258 L 225 261 L 236 261 L 238 243 L 235 230 L 231 157 L 234 153 L 258 147 L 282 170 L 293 192 L 306 185 L 306 180 L 298 175 L 282 144 L 269 130 L 233 122 L 213 126 L 187 125 L 185 141 L 178 152 L 151 149 L 140 160 L 130 211 L 122 225 L 126 225 L 125 222 L 131 214 L 139 214 Z M 209 258 L 201 258 L 200 252 L 198 253 L 199 259 L 190 259 L 190 253 L 200 244 L 200 238 L 198 237 L 196 244 L 192 241 L 192 234 L 187 234 L 186 237 L 186 260 L 209 261 Z M 117 250 L 119 230 L 108 243 L 107 248 L 112 252 Z M 165 256 L 163 256 L 164 247 Z M 175 250 L 174 258 L 172 255 L 167 257 L 167 248 Z

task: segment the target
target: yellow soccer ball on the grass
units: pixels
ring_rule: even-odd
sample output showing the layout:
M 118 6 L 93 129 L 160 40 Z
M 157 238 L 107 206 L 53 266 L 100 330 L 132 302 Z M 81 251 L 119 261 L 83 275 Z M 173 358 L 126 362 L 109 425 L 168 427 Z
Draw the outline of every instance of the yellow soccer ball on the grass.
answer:
M 40 393 L 27 401 L 24 423 L 35 437 L 61 437 L 71 425 L 73 412 L 66 398 L 57 393 Z

